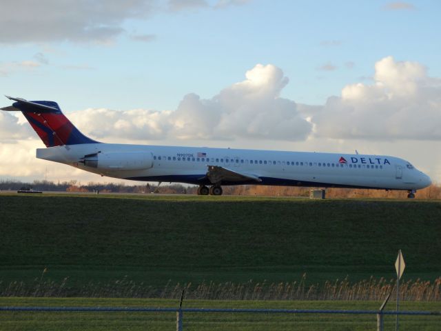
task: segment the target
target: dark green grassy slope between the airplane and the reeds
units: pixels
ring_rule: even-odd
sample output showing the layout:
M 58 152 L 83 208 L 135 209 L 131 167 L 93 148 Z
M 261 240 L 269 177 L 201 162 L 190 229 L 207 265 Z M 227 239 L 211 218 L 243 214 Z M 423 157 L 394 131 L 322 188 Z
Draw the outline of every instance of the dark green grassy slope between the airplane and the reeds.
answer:
M 0 291 L 393 279 L 398 249 L 404 281 L 433 281 L 440 219 L 440 201 L 0 194 Z

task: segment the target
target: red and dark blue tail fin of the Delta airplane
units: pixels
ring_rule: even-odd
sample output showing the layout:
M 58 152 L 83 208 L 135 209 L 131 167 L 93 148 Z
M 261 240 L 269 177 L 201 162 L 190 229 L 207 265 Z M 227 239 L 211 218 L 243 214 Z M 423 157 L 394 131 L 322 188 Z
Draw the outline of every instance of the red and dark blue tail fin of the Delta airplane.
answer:
M 0 108 L 7 111 L 21 111 L 46 147 L 98 143 L 82 134 L 54 101 L 28 101 L 8 97 L 16 101 L 12 106 Z

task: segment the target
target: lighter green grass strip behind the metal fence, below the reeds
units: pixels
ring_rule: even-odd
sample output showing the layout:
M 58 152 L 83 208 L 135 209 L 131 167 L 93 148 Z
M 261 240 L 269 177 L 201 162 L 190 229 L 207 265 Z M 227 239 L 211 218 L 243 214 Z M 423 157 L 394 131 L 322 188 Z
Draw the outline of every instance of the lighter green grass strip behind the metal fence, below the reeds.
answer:
M 184 301 L 185 308 L 378 310 L 376 301 Z M 0 298 L 0 306 L 176 308 L 176 300 Z M 389 303 L 386 310 L 394 310 Z M 440 311 L 441 303 L 402 302 L 401 310 Z M 385 317 L 392 330 L 395 317 Z M 438 331 L 440 316 L 400 317 L 400 330 Z M 376 315 L 184 313 L 184 330 L 376 330 Z M 174 330 L 176 313 L 0 312 L 0 330 Z

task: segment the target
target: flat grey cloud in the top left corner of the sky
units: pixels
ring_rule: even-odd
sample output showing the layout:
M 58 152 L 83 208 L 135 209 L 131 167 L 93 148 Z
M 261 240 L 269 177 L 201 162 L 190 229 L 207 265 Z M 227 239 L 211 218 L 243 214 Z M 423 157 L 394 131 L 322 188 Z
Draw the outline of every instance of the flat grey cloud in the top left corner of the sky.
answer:
M 0 43 L 52 41 L 108 43 L 124 32 L 121 25 L 125 20 L 143 19 L 152 14 L 156 2 L 3 0 Z

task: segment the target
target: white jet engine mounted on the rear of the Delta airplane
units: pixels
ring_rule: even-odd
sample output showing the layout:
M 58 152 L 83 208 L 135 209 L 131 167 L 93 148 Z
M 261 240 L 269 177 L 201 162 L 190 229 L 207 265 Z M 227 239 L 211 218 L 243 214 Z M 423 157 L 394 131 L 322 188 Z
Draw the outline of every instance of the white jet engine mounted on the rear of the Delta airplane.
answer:
M 97 152 L 85 155 L 79 163 L 103 170 L 145 170 L 153 167 L 151 152 Z

